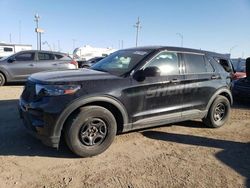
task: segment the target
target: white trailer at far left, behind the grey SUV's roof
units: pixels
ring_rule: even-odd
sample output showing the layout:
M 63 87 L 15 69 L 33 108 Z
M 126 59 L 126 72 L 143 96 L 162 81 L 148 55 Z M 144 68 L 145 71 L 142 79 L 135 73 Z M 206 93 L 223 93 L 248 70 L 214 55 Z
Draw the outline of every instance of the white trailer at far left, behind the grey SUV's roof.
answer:
M 11 44 L 11 43 L 0 43 L 0 58 L 10 56 L 14 53 L 32 50 L 32 45 L 29 44 Z

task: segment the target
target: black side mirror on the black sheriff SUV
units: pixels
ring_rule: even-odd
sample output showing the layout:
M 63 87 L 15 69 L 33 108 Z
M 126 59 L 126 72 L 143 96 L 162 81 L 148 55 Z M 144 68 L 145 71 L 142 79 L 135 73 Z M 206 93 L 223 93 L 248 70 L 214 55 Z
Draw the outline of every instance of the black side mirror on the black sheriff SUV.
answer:
M 158 67 L 147 67 L 144 70 L 139 70 L 134 73 L 134 79 L 141 82 L 145 80 L 146 77 L 160 76 L 161 71 Z

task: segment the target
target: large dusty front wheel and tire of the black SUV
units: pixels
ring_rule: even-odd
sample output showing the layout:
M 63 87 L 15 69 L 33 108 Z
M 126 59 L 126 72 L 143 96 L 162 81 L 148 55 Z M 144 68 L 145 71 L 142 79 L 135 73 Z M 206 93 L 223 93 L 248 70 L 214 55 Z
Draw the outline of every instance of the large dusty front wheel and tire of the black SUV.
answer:
M 100 106 L 86 106 L 66 124 L 65 139 L 78 156 L 104 152 L 113 142 L 117 124 L 113 114 Z

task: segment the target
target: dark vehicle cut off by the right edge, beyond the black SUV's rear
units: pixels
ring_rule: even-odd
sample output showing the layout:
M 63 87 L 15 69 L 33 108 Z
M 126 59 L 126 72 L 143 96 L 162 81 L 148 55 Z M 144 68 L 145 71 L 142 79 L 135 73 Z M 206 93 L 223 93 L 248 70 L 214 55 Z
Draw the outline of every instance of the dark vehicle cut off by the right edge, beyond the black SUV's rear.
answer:
M 246 77 L 233 84 L 233 96 L 236 100 L 250 101 L 250 58 L 245 61 Z

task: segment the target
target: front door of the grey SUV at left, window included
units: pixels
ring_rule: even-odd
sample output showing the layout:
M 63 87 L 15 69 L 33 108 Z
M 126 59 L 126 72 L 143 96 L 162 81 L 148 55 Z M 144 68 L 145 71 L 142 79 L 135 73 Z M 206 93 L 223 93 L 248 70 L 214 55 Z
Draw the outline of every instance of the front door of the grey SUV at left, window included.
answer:
M 25 80 L 33 73 L 35 52 L 20 52 L 11 58 L 14 61 L 8 63 L 8 72 L 14 80 Z

